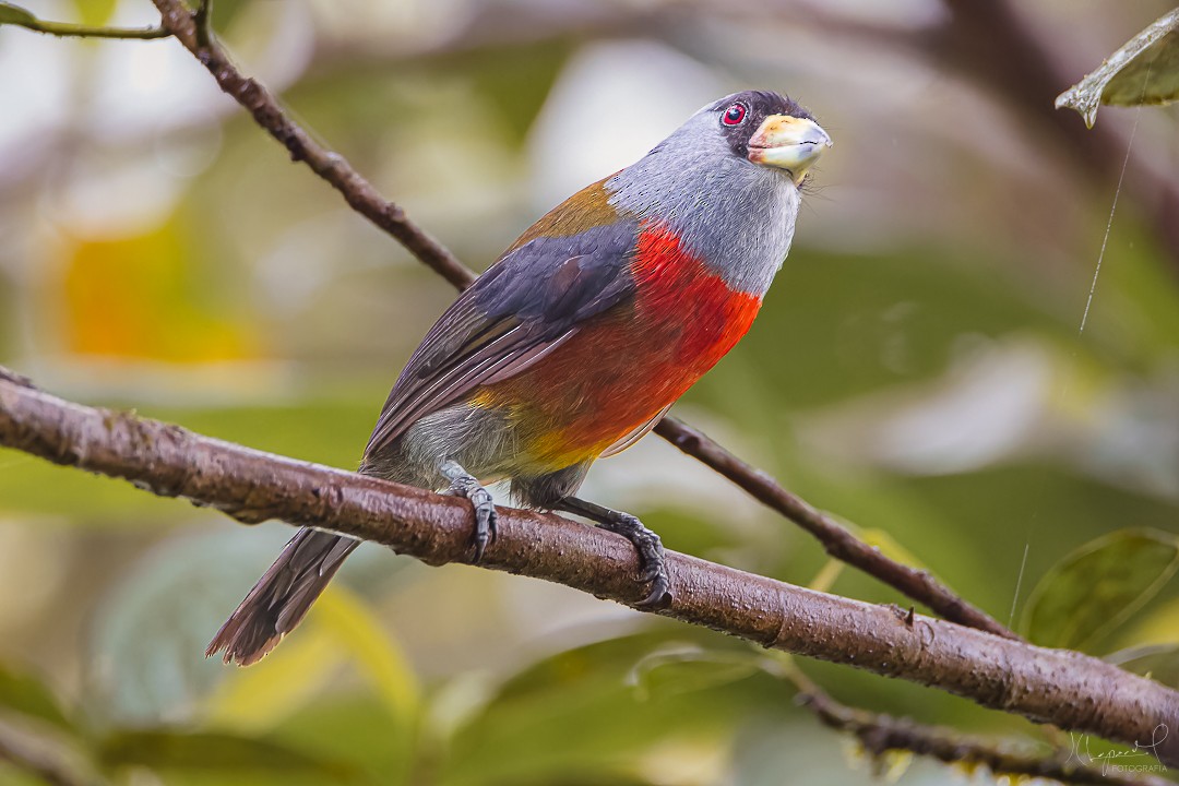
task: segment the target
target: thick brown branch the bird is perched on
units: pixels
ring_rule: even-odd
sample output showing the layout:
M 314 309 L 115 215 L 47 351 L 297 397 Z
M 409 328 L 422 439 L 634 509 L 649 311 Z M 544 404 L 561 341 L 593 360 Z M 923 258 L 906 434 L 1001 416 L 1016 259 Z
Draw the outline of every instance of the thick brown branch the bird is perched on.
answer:
M 374 541 L 427 564 L 470 559 L 470 506 L 455 497 L 298 462 L 126 412 L 0 381 L 0 445 L 121 477 L 244 523 L 279 519 Z M 499 509 L 487 568 L 633 606 L 645 594 L 623 537 L 555 515 Z M 896 614 L 667 553 L 658 613 L 798 655 L 936 687 L 984 707 L 1126 744 L 1157 740 L 1179 765 L 1179 692 L 1080 653 L 923 615 Z M 1170 733 L 1159 739 L 1159 728 Z

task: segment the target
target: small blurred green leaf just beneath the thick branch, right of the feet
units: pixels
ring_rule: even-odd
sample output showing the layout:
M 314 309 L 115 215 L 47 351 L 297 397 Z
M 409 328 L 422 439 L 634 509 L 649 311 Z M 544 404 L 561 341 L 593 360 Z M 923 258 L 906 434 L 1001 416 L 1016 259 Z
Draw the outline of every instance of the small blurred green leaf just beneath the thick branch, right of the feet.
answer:
M 782 676 L 782 666 L 749 649 L 706 649 L 692 643 L 671 643 L 644 655 L 626 682 L 640 700 L 692 693 L 744 680 L 758 672 Z

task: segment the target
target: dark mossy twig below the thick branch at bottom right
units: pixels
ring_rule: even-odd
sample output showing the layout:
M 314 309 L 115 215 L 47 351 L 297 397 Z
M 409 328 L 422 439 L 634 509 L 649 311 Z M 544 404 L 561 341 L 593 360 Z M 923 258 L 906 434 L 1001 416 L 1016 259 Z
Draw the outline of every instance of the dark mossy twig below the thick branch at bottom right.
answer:
M 983 766 L 995 775 L 1050 778 L 1065 784 L 1091 786 L 1174 786 L 1173 781 L 1148 773 L 1126 775 L 1114 768 L 1144 761 L 1147 766 L 1165 768 L 1146 752 L 1135 752 L 1128 759 L 1111 759 L 1105 767 L 1091 764 L 1087 753 L 1081 749 L 1056 751 L 1048 757 L 1017 753 L 954 729 L 848 707 L 809 680 L 801 687 L 798 701 L 810 708 L 824 726 L 851 734 L 867 753 L 876 758 L 890 751 L 907 751 L 949 765 L 968 768 Z

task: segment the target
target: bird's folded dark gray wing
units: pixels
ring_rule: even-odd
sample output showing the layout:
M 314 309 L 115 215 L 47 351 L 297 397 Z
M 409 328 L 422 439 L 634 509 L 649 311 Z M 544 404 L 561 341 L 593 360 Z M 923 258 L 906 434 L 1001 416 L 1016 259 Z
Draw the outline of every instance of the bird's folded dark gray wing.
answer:
M 365 456 L 476 387 L 520 374 L 634 295 L 634 222 L 536 238 L 487 269 L 442 313 L 389 392 Z

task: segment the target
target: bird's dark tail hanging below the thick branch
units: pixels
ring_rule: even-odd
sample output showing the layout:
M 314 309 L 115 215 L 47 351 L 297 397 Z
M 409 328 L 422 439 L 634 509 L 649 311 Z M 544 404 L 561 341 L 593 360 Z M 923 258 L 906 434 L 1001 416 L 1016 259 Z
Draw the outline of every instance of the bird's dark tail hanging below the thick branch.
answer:
M 351 537 L 301 529 L 209 642 L 205 656 L 224 649 L 226 663 L 262 660 L 303 620 L 357 546 Z

